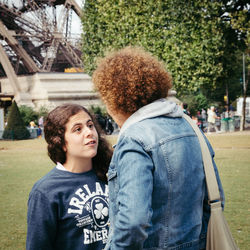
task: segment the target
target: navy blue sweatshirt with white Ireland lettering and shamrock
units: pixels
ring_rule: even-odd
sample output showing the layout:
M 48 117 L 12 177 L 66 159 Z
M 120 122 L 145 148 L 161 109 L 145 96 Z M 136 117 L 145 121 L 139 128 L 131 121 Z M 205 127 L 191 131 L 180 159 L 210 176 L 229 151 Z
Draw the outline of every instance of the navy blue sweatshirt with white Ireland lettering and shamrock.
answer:
M 104 249 L 108 238 L 108 186 L 94 171 L 51 170 L 28 201 L 27 250 Z

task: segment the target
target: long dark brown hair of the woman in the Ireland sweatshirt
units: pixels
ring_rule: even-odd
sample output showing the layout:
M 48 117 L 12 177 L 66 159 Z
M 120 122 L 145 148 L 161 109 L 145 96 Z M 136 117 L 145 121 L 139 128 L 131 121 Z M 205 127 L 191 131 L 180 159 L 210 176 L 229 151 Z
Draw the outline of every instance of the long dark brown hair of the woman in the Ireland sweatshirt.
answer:
M 99 179 L 107 181 L 106 173 L 112 157 L 112 150 L 105 138 L 101 135 L 99 124 L 94 116 L 81 105 L 63 104 L 52 110 L 44 122 L 45 140 L 48 143 L 48 155 L 54 162 L 64 164 L 66 162 L 66 153 L 63 150 L 65 146 L 66 124 L 70 117 L 78 114 L 80 111 L 86 112 L 92 119 L 98 133 L 99 144 L 96 156 L 92 159 L 93 169 Z

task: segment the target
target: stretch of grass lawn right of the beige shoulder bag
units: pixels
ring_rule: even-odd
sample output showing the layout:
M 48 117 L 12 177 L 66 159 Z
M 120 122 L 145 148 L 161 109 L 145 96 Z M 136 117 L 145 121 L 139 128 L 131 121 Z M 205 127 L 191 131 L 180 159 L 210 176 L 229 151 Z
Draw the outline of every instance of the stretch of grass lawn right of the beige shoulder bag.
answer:
M 226 196 L 225 216 L 240 249 L 250 248 L 250 131 L 208 136 Z

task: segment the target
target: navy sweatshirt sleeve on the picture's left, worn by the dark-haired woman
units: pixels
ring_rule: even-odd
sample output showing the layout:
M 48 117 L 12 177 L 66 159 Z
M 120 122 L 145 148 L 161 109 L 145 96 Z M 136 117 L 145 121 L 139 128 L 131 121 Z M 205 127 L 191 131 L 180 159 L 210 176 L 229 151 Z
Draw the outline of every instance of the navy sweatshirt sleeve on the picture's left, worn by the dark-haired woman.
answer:
M 54 249 L 56 209 L 45 195 L 31 192 L 28 201 L 26 250 Z

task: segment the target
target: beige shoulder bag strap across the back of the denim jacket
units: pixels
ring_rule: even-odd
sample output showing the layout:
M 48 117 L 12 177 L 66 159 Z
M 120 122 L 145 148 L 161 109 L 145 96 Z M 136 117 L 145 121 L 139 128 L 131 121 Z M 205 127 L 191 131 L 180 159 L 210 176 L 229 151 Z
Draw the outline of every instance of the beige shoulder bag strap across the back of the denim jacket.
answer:
M 206 176 L 207 190 L 208 190 L 208 200 L 210 203 L 213 201 L 218 201 L 220 200 L 219 187 L 213 167 L 212 157 L 208 149 L 207 143 L 205 141 L 205 138 L 202 135 L 198 126 L 188 115 L 183 114 L 183 118 L 185 118 L 186 121 L 192 126 L 200 142 L 204 171 Z

